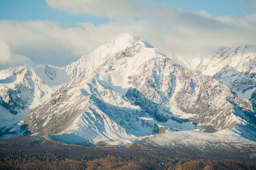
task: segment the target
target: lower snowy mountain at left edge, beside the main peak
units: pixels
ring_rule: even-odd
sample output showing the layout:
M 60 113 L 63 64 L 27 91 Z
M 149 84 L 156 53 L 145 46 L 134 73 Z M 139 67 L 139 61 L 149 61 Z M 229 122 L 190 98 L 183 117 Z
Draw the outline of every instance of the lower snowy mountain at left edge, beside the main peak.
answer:
M 54 91 L 70 81 L 61 68 L 46 65 L 22 65 L 0 71 L 0 134 L 3 137 L 20 135 L 31 108 L 42 104 Z M 27 133 L 26 133 L 27 134 Z

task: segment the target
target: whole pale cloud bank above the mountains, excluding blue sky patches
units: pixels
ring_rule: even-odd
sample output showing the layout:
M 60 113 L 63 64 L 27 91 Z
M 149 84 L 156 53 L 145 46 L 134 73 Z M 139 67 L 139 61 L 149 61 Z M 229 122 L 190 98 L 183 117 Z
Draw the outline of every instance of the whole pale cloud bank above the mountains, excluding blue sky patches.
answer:
M 76 26 L 0 20 L 0 69 L 27 62 L 65 66 L 124 32 L 147 40 L 166 55 L 256 44 L 256 13 L 243 18 L 213 16 L 136 0 L 47 0 L 47 4 L 72 15 L 109 20 Z

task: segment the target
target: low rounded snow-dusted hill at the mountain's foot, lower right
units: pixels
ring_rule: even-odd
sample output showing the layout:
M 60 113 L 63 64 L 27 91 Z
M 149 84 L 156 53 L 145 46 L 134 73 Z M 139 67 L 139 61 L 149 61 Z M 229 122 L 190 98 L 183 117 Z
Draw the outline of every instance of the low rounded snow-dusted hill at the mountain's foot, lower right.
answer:
M 136 148 L 136 149 L 135 149 Z M 196 131 L 168 132 L 142 139 L 125 150 L 136 150 L 174 157 L 183 153 L 185 157 L 208 157 L 218 159 L 256 160 L 256 142 L 225 129 L 215 133 Z M 134 153 L 132 152 L 132 153 Z

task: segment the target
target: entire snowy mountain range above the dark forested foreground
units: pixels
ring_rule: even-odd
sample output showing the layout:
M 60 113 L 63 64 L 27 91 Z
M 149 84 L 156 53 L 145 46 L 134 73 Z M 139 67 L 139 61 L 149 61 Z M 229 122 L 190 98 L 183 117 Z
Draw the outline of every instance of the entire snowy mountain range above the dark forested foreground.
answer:
M 1 70 L 0 110 L 1 138 L 202 154 L 225 148 L 256 159 L 256 52 L 166 56 L 126 33 L 61 68 Z

